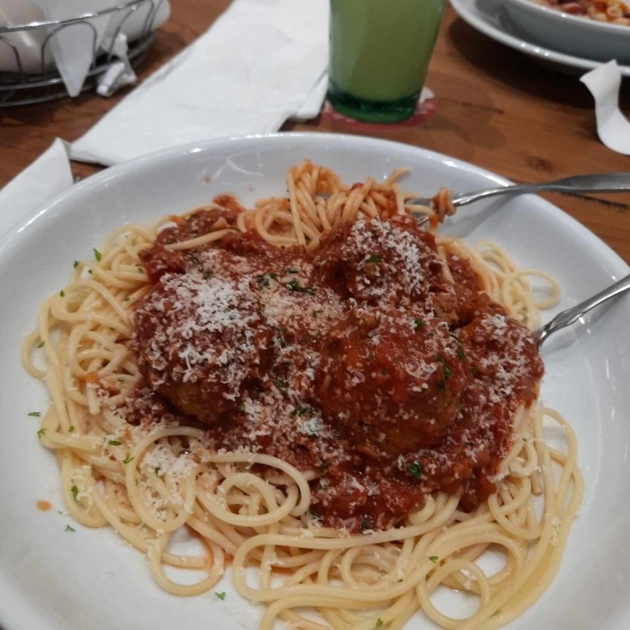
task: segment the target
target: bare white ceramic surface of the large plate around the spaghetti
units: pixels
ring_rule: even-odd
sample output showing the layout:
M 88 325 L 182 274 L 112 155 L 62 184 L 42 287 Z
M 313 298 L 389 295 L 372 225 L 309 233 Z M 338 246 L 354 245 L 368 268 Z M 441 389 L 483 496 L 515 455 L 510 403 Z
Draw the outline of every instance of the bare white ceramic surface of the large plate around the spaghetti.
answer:
M 399 166 L 404 188 L 433 192 L 507 185 L 488 171 L 403 144 L 362 137 L 289 134 L 226 139 L 142 157 L 85 180 L 0 241 L 0 623 L 5 630 L 236 630 L 256 627 L 260 609 L 219 584 L 178 599 L 160 590 L 146 559 L 109 529 L 90 530 L 57 513 L 63 506 L 54 457 L 38 444 L 37 419 L 48 395 L 20 367 L 20 344 L 37 306 L 59 290 L 72 261 L 91 255 L 108 232 L 128 221 L 152 222 L 238 193 L 244 202 L 282 194 L 290 164 L 303 157 L 336 169 L 345 181 L 383 178 Z M 626 275 L 626 264 L 591 232 L 541 198 L 494 200 L 462 209 L 450 234 L 475 243 L 491 238 L 521 266 L 553 273 L 563 309 Z M 558 310 L 556 309 L 556 311 Z M 553 312 L 549 312 L 549 319 Z M 544 348 L 542 398 L 570 418 L 578 434 L 586 496 L 562 566 L 541 600 L 510 628 L 630 627 L 630 301 L 593 312 Z M 53 504 L 39 512 L 37 500 Z M 176 578 L 175 578 L 176 579 Z M 466 602 L 443 602 L 458 614 Z M 469 605 L 469 602 L 468 602 Z M 408 629 L 427 627 L 416 617 Z

